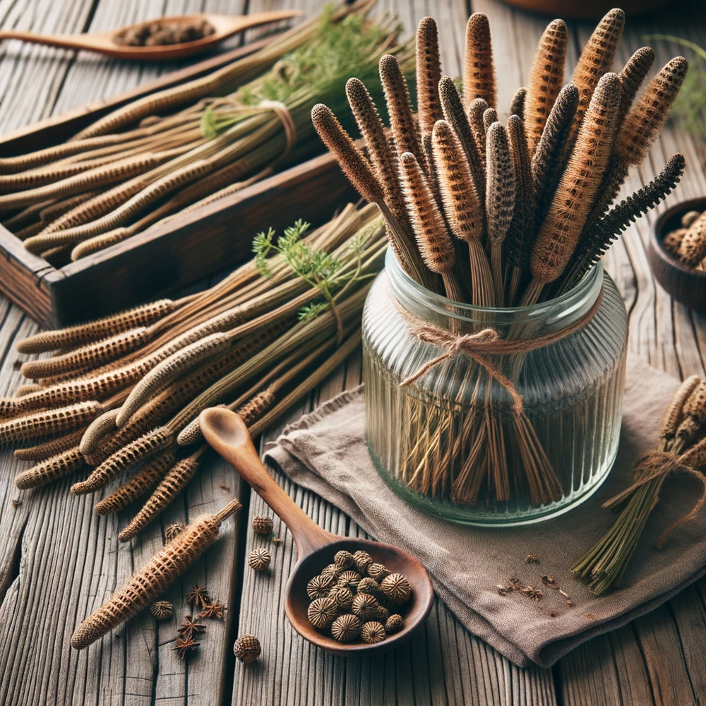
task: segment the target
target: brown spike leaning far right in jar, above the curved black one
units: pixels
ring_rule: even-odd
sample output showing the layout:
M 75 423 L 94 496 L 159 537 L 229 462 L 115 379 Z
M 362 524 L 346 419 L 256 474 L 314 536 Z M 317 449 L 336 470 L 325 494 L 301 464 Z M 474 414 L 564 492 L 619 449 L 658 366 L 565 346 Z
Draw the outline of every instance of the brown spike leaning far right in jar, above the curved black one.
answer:
M 683 56 L 676 56 L 650 81 L 618 130 L 616 160 L 634 166 L 642 163 L 664 128 L 688 68 L 689 62 Z

